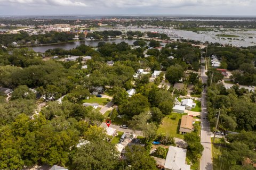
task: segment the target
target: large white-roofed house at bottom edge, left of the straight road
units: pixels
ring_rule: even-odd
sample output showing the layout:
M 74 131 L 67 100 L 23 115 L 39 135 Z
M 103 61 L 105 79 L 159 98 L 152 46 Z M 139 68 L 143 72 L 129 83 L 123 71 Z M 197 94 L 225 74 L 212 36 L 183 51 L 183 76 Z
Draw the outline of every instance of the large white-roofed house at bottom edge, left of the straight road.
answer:
M 170 146 L 164 168 L 166 170 L 190 170 L 190 165 L 186 164 L 186 154 L 186 149 Z

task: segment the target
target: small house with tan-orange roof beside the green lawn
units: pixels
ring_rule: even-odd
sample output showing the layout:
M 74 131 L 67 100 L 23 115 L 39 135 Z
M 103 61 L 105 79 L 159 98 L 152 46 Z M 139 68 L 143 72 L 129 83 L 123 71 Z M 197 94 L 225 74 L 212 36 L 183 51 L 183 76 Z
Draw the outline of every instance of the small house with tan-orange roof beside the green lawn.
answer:
M 193 117 L 189 115 L 183 115 L 181 117 L 181 123 L 180 123 L 180 134 L 186 134 L 194 130 L 194 124 L 195 120 Z

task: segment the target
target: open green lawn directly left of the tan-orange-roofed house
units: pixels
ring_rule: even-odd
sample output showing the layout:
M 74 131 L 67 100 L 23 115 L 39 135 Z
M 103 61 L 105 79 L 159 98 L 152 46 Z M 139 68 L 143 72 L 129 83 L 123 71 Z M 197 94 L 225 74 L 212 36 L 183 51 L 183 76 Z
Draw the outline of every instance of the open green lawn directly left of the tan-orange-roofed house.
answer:
M 184 136 L 182 134 L 179 134 L 182 115 L 187 115 L 187 114 L 172 113 L 171 115 L 165 116 L 157 132 L 183 139 Z M 173 117 L 176 117 L 176 118 L 174 119 Z

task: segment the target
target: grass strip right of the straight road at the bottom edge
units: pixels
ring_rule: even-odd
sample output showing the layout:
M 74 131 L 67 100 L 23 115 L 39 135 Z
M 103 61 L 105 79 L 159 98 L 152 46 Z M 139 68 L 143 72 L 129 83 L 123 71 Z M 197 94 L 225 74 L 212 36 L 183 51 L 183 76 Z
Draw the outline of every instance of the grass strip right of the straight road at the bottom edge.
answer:
M 212 141 L 213 141 L 213 138 L 212 138 Z M 221 141 L 221 139 L 219 138 L 215 138 L 214 142 L 223 144 L 223 141 Z M 225 157 L 225 159 L 223 159 L 222 157 Z M 212 144 L 212 158 L 213 158 L 213 170 L 229 169 L 228 163 L 226 162 L 227 152 L 225 147 Z

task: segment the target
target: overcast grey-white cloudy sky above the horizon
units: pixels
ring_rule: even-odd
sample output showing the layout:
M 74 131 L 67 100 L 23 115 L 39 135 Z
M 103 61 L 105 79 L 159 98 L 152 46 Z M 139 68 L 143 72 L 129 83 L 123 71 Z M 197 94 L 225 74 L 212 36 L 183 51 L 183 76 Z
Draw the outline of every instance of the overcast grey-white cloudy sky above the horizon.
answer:
M 256 0 L 0 0 L 0 15 L 253 15 Z

